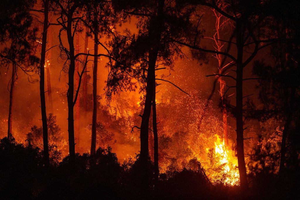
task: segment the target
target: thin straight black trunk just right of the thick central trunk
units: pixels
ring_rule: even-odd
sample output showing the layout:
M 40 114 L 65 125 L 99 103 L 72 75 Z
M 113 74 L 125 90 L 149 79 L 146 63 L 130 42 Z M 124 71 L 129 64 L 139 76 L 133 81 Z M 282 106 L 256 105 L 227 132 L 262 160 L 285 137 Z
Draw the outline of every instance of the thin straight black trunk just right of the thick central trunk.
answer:
M 154 91 L 153 91 L 153 98 L 152 98 L 152 123 L 153 123 L 153 136 L 154 136 L 154 178 L 155 181 L 158 181 L 159 177 L 159 168 L 158 168 L 158 132 L 157 132 L 157 120 L 156 120 L 156 85 L 154 81 Z

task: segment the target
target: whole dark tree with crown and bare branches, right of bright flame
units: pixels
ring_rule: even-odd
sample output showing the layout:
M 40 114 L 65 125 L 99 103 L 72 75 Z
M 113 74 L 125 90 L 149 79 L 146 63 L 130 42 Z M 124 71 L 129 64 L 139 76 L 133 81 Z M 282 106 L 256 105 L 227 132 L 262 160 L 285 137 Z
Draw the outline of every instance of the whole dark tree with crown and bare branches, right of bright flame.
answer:
M 264 28 L 266 28 L 265 21 L 271 18 L 271 14 L 266 12 L 269 8 L 268 3 L 262 3 L 261 1 L 247 2 L 242 1 L 204 1 L 194 2 L 190 1 L 187 4 L 202 5 L 208 8 L 212 8 L 222 16 L 229 20 L 233 26 L 232 34 L 228 40 L 222 40 L 226 45 L 223 51 L 209 50 L 200 47 L 199 25 L 194 27 L 194 37 L 188 38 L 186 41 L 178 41 L 178 44 L 186 45 L 193 50 L 198 50 L 206 53 L 213 53 L 217 55 L 225 56 L 231 59 L 230 65 L 235 66 L 235 76 L 230 75 L 223 71 L 223 73 L 212 74 L 208 76 L 220 76 L 231 78 L 234 82 L 234 86 L 227 86 L 226 91 L 235 88 L 235 102 L 236 105 L 228 105 L 228 110 L 236 118 L 236 141 L 237 141 L 237 158 L 238 158 L 238 170 L 240 175 L 241 188 L 248 188 L 246 164 L 244 158 L 244 98 L 249 95 L 243 95 L 243 83 L 244 81 L 257 80 L 257 78 L 244 78 L 244 68 L 249 65 L 251 61 L 256 57 L 259 50 L 270 46 L 278 42 L 278 38 L 272 38 L 262 35 Z M 223 6 L 226 5 L 226 6 Z M 232 50 L 232 46 L 235 46 L 235 50 Z M 247 49 L 247 50 L 246 50 Z M 251 49 L 252 51 L 250 51 Z M 246 52 L 246 53 L 245 53 Z M 223 60 L 225 62 L 225 60 Z M 221 66 L 223 66 L 222 63 Z M 230 67 L 232 68 L 232 67 Z M 225 74 L 226 73 L 226 74 Z

